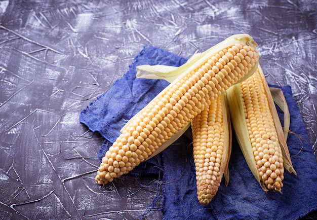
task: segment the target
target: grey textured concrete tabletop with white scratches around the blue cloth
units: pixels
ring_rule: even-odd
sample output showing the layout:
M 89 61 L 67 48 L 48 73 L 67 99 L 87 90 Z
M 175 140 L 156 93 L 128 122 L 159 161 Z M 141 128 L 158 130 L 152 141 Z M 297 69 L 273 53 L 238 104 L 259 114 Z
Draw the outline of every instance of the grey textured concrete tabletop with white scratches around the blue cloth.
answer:
M 144 188 L 125 176 L 133 187 L 101 189 L 103 139 L 78 123 L 147 44 L 190 57 L 251 34 L 267 81 L 291 85 L 315 153 L 316 10 L 313 0 L 0 1 L 0 218 L 132 219 L 147 210 L 157 179 L 140 180 L 153 186 Z

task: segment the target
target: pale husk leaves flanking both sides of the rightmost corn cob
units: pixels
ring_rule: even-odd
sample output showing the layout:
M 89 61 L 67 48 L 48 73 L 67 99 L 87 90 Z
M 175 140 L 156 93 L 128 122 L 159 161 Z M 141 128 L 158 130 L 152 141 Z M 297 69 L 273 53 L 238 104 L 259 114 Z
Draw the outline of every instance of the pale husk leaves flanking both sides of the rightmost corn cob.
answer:
M 269 107 L 270 107 L 271 114 L 273 116 L 273 121 L 275 124 L 275 129 L 278 134 L 279 142 L 281 145 L 281 150 L 282 150 L 283 160 L 284 160 L 284 163 L 283 163 L 284 168 L 287 169 L 290 173 L 293 172 L 294 174 L 296 174 L 296 171 L 291 162 L 291 157 L 290 157 L 290 153 L 289 153 L 287 142 L 286 142 L 287 135 L 285 135 L 284 133 L 278 112 L 276 111 L 276 107 L 274 104 L 274 100 L 275 100 L 275 102 L 278 103 L 278 105 L 281 106 L 281 108 L 285 111 L 284 120 L 285 120 L 285 125 L 287 126 L 286 130 L 288 130 L 289 124 L 290 124 L 290 117 L 289 117 L 289 112 L 288 112 L 287 103 L 285 101 L 285 97 L 282 91 L 275 90 L 275 89 L 270 90 L 260 65 L 258 65 L 258 70 L 260 72 L 260 75 L 264 84 L 265 92 L 268 98 Z M 274 99 L 272 97 L 271 91 L 273 93 Z M 227 93 L 227 98 L 229 103 L 230 117 L 232 119 L 232 126 L 236 134 L 237 141 L 239 142 L 240 148 L 242 150 L 242 153 L 245 157 L 245 160 L 252 174 L 254 175 L 256 180 L 259 182 L 261 188 L 264 191 L 268 191 L 267 188 L 264 186 L 264 183 L 260 181 L 259 172 L 256 166 L 256 162 L 254 160 L 252 145 L 249 138 L 249 132 L 247 127 L 247 121 L 245 119 L 245 113 L 243 109 L 243 101 L 241 96 L 240 84 L 236 84 L 232 86 L 226 91 L 226 93 Z

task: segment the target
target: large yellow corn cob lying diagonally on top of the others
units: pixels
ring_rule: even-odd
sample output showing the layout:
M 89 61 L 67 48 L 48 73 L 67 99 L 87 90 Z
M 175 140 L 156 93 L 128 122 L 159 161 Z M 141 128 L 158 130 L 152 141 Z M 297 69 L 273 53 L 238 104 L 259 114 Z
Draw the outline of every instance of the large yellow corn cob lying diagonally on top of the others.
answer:
M 96 181 L 104 185 L 128 173 L 258 64 L 256 43 L 233 35 L 203 53 L 121 130 L 103 157 Z M 180 67 L 180 69 L 183 69 Z

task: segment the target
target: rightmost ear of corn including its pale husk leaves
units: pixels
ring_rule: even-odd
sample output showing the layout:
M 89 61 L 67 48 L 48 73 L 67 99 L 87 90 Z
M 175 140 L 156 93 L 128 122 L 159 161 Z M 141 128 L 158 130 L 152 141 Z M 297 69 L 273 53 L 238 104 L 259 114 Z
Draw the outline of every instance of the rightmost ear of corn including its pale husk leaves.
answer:
M 286 159 L 290 156 L 283 129 L 282 136 L 277 132 L 282 126 L 261 67 L 226 93 L 234 132 L 249 168 L 264 191 L 281 192 L 286 161 L 295 170 Z M 283 156 L 282 149 L 288 156 Z

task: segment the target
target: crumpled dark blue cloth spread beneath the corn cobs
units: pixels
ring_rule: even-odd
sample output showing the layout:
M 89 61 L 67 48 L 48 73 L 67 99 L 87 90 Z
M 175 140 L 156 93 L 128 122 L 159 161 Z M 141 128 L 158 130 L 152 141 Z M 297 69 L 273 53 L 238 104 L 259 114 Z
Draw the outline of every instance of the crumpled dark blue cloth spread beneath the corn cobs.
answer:
M 125 120 L 145 106 L 168 85 L 165 81 L 136 79 L 135 66 L 165 64 L 179 66 L 185 58 L 159 48 L 145 46 L 130 65 L 124 77 L 80 115 L 80 122 L 104 137 L 99 159 L 120 134 Z M 230 180 L 221 182 L 219 191 L 209 205 L 196 198 L 195 169 L 192 158 L 190 130 L 161 154 L 141 163 L 131 174 L 141 176 L 162 174 L 164 219 L 297 219 L 317 209 L 317 163 L 308 135 L 293 99 L 290 86 L 282 88 L 291 114 L 288 145 L 297 176 L 285 171 L 283 194 L 265 193 L 253 177 L 242 152 L 233 140 L 229 162 Z M 279 110 L 280 117 L 283 113 Z M 298 136 L 304 138 L 300 139 Z M 296 155 L 296 156 L 295 156 Z

